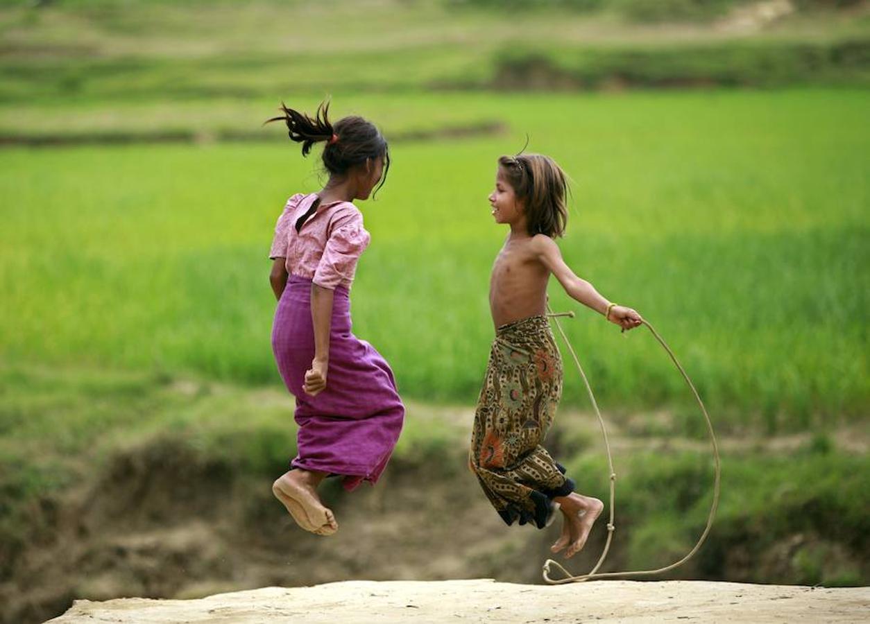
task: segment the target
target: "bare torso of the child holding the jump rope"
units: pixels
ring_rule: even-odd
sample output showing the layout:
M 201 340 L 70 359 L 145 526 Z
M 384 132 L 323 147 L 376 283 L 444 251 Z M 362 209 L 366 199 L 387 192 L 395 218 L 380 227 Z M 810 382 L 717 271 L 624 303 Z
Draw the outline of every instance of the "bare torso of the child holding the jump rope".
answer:
M 508 239 L 490 277 L 490 311 L 496 328 L 546 311 L 550 271 L 532 251 L 532 238 Z

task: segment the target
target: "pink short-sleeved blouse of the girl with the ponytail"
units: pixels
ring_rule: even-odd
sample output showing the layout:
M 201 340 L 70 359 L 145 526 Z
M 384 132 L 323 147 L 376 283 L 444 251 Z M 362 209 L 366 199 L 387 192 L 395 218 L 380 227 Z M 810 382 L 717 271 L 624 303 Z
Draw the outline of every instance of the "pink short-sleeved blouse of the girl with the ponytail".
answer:
M 350 289 L 359 256 L 371 240 L 363 228 L 363 213 L 351 202 L 322 203 L 297 232 L 297 219 L 317 198 L 311 193 L 287 200 L 275 225 L 269 258 L 285 258 L 287 273 L 310 278 L 325 289 Z

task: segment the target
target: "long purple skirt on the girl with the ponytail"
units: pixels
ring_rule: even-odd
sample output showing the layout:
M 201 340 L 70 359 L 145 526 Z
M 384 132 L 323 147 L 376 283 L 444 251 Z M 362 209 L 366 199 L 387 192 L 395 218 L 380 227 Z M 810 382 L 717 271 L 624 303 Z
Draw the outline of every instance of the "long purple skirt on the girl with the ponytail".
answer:
M 314 359 L 311 280 L 291 275 L 272 325 L 272 351 L 284 384 L 296 397 L 298 455 L 293 468 L 344 477 L 345 489 L 378 477 L 405 421 L 390 365 L 371 344 L 351 333 L 351 299 L 335 289 L 326 389 L 302 389 Z

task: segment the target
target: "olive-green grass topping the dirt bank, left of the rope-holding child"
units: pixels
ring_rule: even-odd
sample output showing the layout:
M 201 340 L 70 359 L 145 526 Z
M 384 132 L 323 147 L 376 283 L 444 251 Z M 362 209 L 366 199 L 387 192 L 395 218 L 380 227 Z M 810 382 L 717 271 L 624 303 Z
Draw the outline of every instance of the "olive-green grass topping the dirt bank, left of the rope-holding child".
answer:
M 29 510 L 93 487 L 118 458 L 177 448 L 191 461 L 268 483 L 296 455 L 292 407 L 278 388 L 191 375 L 0 367 L 0 578 L 12 563 L 4 553 L 24 548 L 21 540 L 34 528 Z M 440 416 L 409 406 L 395 459 L 418 467 L 455 457 L 465 423 Z M 457 468 L 465 466 L 443 474 Z

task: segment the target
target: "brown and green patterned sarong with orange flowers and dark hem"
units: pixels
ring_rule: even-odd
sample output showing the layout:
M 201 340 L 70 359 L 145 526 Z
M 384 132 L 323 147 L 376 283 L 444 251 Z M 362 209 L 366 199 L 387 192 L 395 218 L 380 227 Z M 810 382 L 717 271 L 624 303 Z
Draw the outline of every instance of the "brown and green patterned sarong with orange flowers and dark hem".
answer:
M 472 472 L 507 524 L 544 528 L 574 482 L 541 446 L 562 395 L 562 359 L 545 316 L 496 330 L 474 415 Z

